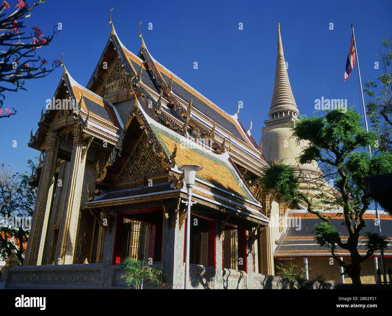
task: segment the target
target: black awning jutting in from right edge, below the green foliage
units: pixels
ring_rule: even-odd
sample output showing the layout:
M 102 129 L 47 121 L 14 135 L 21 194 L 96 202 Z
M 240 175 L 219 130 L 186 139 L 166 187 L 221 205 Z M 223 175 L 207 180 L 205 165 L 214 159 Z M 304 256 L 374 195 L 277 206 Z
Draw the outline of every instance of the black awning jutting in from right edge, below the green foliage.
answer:
M 392 173 L 365 177 L 366 191 L 392 215 Z

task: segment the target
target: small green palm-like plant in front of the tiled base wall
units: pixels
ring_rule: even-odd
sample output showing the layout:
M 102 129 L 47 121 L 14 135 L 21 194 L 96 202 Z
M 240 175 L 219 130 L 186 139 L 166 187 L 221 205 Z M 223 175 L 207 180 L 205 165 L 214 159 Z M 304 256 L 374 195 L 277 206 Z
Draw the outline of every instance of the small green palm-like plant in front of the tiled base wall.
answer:
M 122 278 L 128 289 L 143 289 L 143 281 L 162 284 L 162 271 L 151 267 L 147 262 L 127 257 L 121 263 Z

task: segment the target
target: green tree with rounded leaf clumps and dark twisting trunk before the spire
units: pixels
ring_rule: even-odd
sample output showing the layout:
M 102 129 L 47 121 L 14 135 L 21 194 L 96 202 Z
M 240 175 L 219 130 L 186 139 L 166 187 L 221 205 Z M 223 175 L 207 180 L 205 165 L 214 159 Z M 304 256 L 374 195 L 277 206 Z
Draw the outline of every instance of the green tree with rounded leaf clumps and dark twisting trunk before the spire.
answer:
M 367 253 L 361 256 L 358 252 L 361 230 L 365 228 L 363 215 L 371 202 L 365 190 L 365 177 L 392 172 L 392 153 L 382 152 L 370 157 L 364 152 L 368 145 L 375 144 L 377 135 L 362 128 L 361 115 L 353 109 L 348 109 L 346 113 L 331 110 L 325 116 L 303 116 L 296 122 L 293 137 L 296 137 L 298 144 L 300 141 L 308 142 L 299 157 L 299 163 L 318 161 L 320 166 L 327 166 L 335 189 L 339 192 L 337 197 L 330 198 L 330 203 L 337 201 L 342 208 L 343 225 L 348 230 L 347 242 L 341 240 L 337 229 L 325 214 L 314 209 L 310 196 L 298 191 L 299 177 L 294 176 L 289 166 L 275 163 L 266 168 L 261 185 L 276 190 L 288 202 L 304 203 L 309 213 L 322 220 L 315 228 L 316 242 L 331 249 L 332 256 L 344 268 L 344 273 L 350 276 L 354 287 L 360 288 L 361 263 L 370 258 L 374 251 L 387 249 L 384 237 L 367 233 Z M 335 255 L 337 247 L 349 251 L 351 263 Z

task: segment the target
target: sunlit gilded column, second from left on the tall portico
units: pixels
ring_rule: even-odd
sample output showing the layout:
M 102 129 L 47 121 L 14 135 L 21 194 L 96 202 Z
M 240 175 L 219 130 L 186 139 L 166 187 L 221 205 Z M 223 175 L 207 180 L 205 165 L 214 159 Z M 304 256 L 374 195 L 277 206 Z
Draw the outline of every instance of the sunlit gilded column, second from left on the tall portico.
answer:
M 59 245 L 61 245 L 60 264 L 73 264 L 74 261 L 84 168 L 89 146 L 89 142 L 86 145 L 83 141 L 82 128 L 79 125 L 74 126 L 73 135 L 71 174 L 65 202 L 65 218 L 63 218 L 62 232 L 59 240 Z

